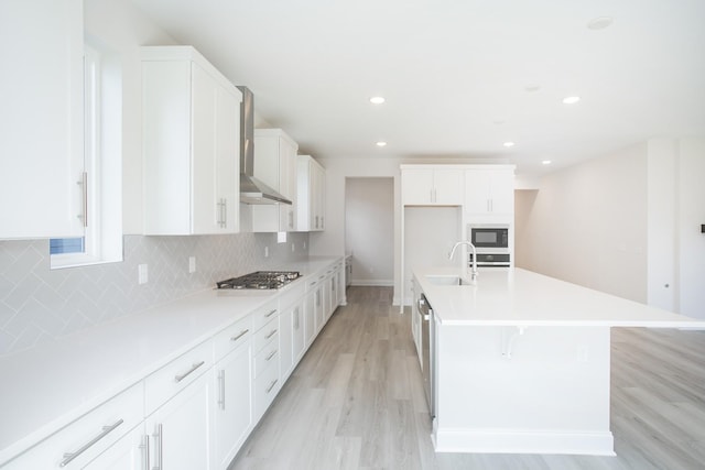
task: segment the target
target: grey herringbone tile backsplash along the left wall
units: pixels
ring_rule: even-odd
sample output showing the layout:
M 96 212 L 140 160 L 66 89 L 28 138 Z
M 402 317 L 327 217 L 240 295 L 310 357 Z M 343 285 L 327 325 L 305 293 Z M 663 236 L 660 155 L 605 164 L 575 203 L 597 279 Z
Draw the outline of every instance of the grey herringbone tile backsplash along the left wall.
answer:
M 289 233 L 286 243 L 276 243 L 275 237 L 126 236 L 124 261 L 63 270 L 50 270 L 48 240 L 0 241 L 0 357 L 165 304 L 223 278 L 307 258 L 307 233 Z M 196 258 L 193 274 L 188 256 Z M 149 266 L 147 284 L 138 284 L 139 264 Z

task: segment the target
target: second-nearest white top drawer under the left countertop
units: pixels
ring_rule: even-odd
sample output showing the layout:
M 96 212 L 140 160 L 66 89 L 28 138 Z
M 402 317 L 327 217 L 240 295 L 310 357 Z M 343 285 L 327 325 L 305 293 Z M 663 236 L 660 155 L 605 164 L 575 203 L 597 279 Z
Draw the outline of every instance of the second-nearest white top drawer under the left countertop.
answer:
M 144 380 L 144 413 L 150 415 L 213 365 L 213 342 L 206 341 Z

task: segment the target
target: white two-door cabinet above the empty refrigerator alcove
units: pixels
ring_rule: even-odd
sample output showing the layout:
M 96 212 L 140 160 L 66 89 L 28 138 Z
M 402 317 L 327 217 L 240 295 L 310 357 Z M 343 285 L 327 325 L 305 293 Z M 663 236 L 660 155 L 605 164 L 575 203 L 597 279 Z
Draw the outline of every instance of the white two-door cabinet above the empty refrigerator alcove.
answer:
M 464 173 L 458 168 L 424 165 L 401 167 L 404 206 L 460 206 Z

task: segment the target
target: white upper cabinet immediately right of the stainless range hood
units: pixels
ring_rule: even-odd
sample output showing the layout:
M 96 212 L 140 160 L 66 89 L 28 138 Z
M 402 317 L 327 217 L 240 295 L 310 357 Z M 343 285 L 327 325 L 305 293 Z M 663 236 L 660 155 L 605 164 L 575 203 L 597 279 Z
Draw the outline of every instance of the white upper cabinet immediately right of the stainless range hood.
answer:
M 299 144 L 281 129 L 254 130 L 254 177 L 293 204 L 252 206 L 252 231 L 289 232 L 296 228 L 296 152 Z

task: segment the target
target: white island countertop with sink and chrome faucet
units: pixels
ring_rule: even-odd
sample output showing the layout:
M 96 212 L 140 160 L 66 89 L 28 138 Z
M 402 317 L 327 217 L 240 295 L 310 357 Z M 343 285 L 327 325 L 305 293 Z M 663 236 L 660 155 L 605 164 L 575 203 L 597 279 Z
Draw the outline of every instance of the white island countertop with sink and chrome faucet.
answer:
M 437 283 L 462 277 L 460 269 L 420 269 L 414 277 L 441 325 L 705 328 L 705 319 L 522 269 L 480 271 L 475 285 Z

